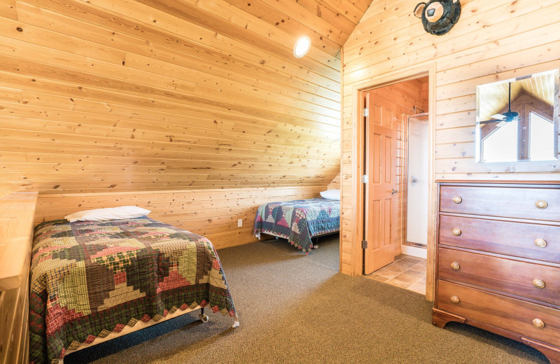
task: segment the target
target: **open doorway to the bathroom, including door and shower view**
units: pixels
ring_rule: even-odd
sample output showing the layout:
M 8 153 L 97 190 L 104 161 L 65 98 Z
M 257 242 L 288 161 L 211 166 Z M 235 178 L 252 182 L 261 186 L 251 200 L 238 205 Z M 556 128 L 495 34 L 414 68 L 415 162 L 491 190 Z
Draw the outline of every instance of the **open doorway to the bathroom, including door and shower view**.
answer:
M 428 76 L 362 92 L 364 274 L 426 292 Z

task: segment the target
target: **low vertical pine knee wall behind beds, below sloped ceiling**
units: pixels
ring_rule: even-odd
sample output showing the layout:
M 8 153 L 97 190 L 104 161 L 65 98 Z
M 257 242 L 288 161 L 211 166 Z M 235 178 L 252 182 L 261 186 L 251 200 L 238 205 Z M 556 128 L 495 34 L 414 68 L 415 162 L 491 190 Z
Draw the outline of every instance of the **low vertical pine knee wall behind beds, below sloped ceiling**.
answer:
M 253 222 L 260 204 L 319 197 L 325 186 L 286 188 L 229 188 L 127 193 L 39 195 L 35 223 L 57 220 L 87 209 L 135 205 L 151 210 L 148 216 L 204 235 L 216 248 L 257 241 Z M 237 221 L 243 221 L 241 228 Z

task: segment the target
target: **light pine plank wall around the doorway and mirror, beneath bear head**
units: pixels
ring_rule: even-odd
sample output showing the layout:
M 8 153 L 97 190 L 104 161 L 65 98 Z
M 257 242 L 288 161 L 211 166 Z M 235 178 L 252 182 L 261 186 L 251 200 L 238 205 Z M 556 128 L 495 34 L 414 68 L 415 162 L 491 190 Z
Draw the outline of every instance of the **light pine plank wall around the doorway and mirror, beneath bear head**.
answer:
M 484 165 L 475 162 L 476 86 L 560 67 L 557 0 L 463 0 L 461 19 L 448 34 L 426 33 L 412 15 L 415 3 L 374 1 L 344 44 L 343 229 L 353 226 L 352 87 L 375 76 L 435 62 L 437 179 L 558 179 L 559 163 Z M 401 73 L 402 74 L 402 73 Z M 510 172 L 514 173 L 510 173 Z M 556 172 L 556 173 L 554 173 Z M 353 234 L 341 234 L 352 246 Z M 355 250 L 357 251 L 357 250 Z M 360 274 L 349 253 L 342 272 Z

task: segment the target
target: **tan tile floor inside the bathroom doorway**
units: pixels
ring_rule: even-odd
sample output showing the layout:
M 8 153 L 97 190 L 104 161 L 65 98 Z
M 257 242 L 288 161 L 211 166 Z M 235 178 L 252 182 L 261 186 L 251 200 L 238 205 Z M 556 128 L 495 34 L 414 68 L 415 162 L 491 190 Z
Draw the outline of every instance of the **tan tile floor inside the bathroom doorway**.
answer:
M 368 274 L 367 278 L 425 295 L 426 259 L 400 254 L 390 265 Z

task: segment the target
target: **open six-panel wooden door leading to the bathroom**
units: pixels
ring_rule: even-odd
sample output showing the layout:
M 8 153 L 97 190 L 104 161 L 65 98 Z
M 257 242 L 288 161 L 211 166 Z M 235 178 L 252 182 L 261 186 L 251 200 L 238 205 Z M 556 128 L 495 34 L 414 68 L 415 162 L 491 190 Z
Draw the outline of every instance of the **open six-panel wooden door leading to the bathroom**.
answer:
M 370 274 L 395 260 L 395 164 L 397 105 L 368 92 L 365 118 L 365 248 L 364 270 Z

